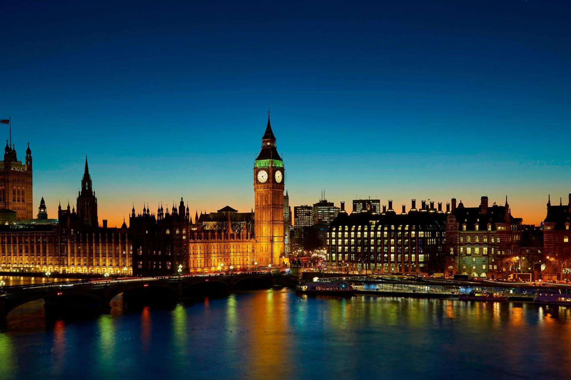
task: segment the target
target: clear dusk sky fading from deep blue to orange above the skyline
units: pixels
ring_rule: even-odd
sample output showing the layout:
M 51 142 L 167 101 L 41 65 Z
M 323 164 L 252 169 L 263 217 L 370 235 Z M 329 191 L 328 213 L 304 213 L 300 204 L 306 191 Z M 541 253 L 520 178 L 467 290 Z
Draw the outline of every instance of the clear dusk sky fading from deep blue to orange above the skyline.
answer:
M 86 153 L 110 225 L 181 195 L 193 216 L 249 211 L 269 107 L 292 207 L 321 189 L 396 209 L 508 195 L 538 224 L 548 193 L 571 192 L 570 11 L 4 0 L 0 118 L 19 159 L 30 142 L 50 217 L 75 204 Z

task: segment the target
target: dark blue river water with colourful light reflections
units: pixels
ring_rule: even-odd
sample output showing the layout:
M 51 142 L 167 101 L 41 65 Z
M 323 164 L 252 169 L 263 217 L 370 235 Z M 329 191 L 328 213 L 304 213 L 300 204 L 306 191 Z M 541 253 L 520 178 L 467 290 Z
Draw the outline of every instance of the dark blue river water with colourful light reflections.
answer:
M 284 288 L 46 322 L 34 301 L 0 333 L 0 379 L 568 378 L 570 311 Z

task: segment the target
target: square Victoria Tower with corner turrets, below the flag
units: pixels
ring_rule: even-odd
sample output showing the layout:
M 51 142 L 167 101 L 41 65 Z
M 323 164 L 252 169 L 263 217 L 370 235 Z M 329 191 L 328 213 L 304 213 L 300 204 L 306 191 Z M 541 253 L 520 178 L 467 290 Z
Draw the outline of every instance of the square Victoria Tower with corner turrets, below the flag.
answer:
M 10 146 L 6 140 L 4 160 L 0 161 L 0 209 L 15 211 L 17 219 L 33 219 L 33 200 L 30 144 L 22 163 L 14 145 Z

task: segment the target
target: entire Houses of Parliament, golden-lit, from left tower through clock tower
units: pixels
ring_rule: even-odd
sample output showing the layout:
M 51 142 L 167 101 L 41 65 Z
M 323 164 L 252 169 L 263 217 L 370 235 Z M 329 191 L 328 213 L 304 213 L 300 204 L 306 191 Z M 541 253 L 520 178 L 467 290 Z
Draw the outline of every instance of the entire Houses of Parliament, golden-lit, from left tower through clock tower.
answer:
M 156 213 L 133 205 L 121 227 L 99 224 L 97 198 L 87 157 L 75 205 L 58 207 L 49 219 L 42 197 L 33 219 L 32 156 L 17 158 L 6 144 L 0 162 L 0 271 L 118 275 L 206 273 L 276 266 L 289 252 L 284 209 L 284 164 L 268 115 L 254 162 L 254 209 L 226 206 L 195 213 L 181 198 Z

